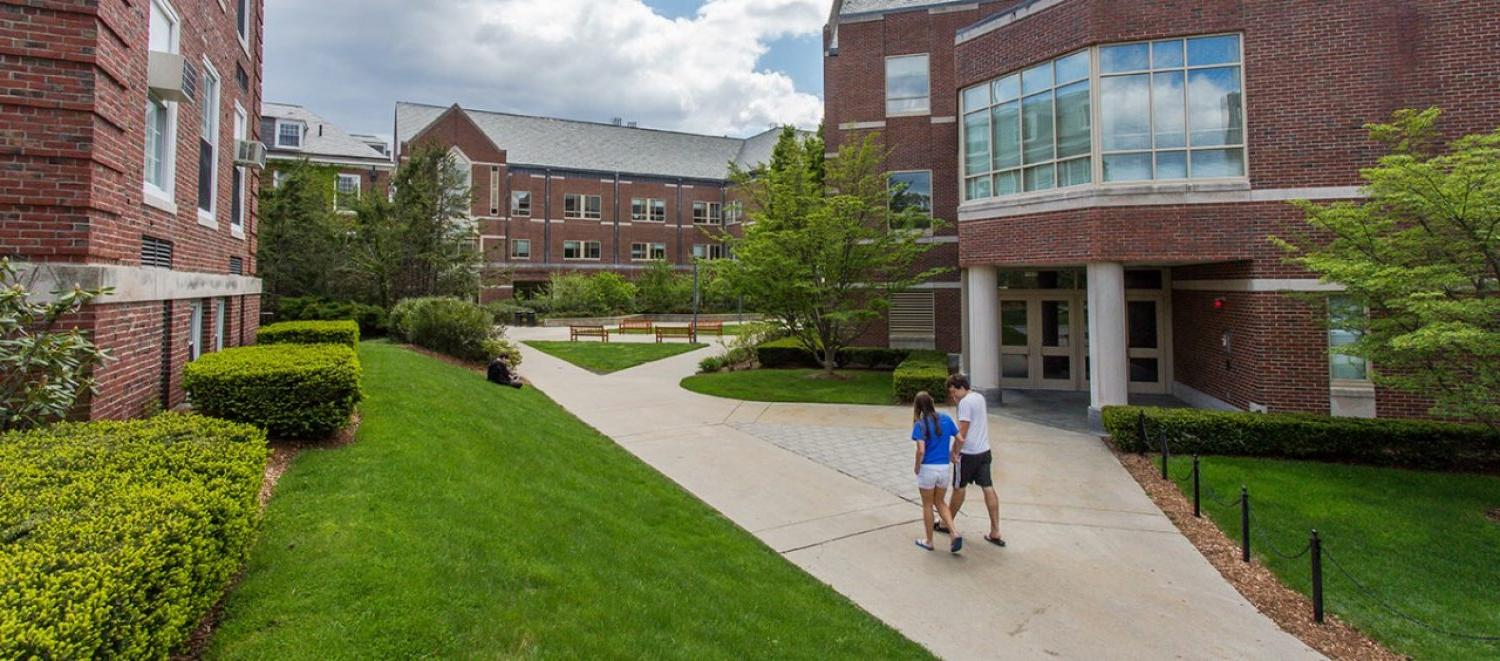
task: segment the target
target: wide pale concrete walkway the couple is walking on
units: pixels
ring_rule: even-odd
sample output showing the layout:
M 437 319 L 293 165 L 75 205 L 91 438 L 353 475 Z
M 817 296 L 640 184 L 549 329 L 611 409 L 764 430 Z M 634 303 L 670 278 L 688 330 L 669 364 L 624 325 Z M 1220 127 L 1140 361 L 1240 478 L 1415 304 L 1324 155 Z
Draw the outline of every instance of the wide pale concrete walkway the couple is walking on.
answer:
M 566 336 L 512 330 L 518 340 Z M 600 376 L 522 345 L 520 372 L 939 657 L 1317 658 L 1234 592 L 1096 438 L 993 415 L 1010 547 L 980 538 L 987 523 L 974 489 L 960 519 L 964 552 L 927 553 L 912 546 L 921 510 L 910 502 L 906 408 L 680 388 L 716 351 Z

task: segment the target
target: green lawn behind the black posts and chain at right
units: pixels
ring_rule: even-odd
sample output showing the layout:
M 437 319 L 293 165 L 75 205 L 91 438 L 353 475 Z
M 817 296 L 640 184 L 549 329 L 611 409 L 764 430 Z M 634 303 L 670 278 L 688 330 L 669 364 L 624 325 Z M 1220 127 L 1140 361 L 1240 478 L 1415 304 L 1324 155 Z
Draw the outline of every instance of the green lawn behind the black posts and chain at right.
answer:
M 1174 459 L 1172 472 L 1186 475 L 1190 466 L 1191 459 Z M 1233 540 L 1239 540 L 1238 505 L 1210 508 L 1208 489 L 1227 501 L 1240 484 L 1250 487 L 1251 550 L 1293 589 L 1311 594 L 1308 558 L 1281 558 L 1266 541 L 1296 555 L 1316 528 L 1328 555 L 1402 613 L 1450 631 L 1500 636 L 1500 523 L 1485 519 L 1486 510 L 1500 507 L 1500 478 L 1204 457 L 1203 484 L 1206 514 Z M 1191 498 L 1191 481 L 1179 486 Z M 1500 657 L 1500 642 L 1458 640 L 1390 615 L 1360 597 L 1330 562 L 1324 558 L 1329 612 L 1392 651 L 1416 658 Z

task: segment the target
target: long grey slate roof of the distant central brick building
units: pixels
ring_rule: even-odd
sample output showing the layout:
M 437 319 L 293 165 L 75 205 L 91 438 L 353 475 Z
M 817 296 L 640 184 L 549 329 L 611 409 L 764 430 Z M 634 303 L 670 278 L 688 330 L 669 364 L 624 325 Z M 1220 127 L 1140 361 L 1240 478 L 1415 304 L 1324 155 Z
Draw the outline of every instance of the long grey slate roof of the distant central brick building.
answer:
M 447 109 L 396 103 L 396 142 L 414 138 Z M 464 112 L 514 165 L 704 180 L 728 178 L 729 162 L 750 166 L 768 160 L 780 130 L 726 138 L 466 108 Z

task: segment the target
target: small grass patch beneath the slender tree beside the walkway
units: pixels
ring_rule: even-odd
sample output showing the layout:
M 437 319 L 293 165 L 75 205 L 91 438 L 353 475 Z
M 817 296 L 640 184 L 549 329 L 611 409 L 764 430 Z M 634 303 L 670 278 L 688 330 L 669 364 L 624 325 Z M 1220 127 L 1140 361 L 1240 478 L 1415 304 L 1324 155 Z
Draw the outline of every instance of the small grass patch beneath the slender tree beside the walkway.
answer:
M 844 381 L 819 378 L 818 369 L 741 370 L 693 375 L 682 387 L 694 393 L 750 402 L 820 402 L 888 405 L 896 402 L 891 373 L 837 370 Z

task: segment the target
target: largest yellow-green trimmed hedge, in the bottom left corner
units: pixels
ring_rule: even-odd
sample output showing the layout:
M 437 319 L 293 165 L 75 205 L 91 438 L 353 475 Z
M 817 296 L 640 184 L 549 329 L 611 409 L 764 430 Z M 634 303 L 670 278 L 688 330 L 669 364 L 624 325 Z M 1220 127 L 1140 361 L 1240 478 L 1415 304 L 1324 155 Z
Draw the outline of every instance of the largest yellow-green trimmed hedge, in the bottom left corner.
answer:
M 168 658 L 244 562 L 266 433 L 201 415 L 0 435 L 0 658 Z

